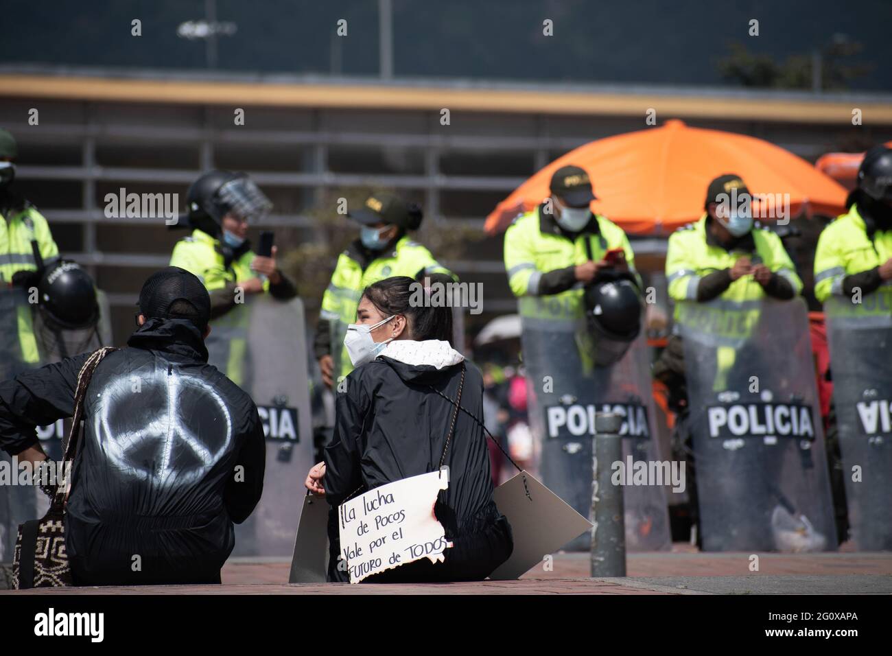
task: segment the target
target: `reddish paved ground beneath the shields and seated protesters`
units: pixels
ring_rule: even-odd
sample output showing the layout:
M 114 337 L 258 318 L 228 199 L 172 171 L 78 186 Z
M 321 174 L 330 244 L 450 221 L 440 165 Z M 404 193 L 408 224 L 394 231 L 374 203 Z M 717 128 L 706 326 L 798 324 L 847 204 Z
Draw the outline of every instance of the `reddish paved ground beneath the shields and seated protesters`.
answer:
M 892 594 L 892 553 L 633 553 L 624 578 L 590 578 L 587 553 L 558 553 L 519 581 L 287 585 L 286 559 L 230 559 L 223 585 L 67 588 L 0 594 Z

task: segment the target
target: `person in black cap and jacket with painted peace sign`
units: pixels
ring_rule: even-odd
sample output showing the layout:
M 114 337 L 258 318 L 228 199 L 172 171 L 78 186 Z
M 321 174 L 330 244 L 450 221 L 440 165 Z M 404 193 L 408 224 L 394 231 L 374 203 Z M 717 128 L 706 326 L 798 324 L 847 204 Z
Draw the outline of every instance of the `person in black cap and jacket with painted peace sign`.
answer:
M 219 583 L 260 501 L 263 428 L 248 394 L 207 363 L 211 302 L 169 267 L 145 282 L 139 328 L 96 368 L 66 514 L 76 585 Z M 42 461 L 35 427 L 70 417 L 89 353 L 0 383 L 0 447 Z

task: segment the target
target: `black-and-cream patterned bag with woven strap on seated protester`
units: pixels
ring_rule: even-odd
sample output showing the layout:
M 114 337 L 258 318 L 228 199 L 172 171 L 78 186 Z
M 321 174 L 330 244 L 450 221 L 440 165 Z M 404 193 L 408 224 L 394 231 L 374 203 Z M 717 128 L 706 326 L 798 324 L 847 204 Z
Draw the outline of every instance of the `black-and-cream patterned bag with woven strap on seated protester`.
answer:
M 74 585 L 71 579 L 71 568 L 68 552 L 65 550 L 65 504 L 71 481 L 71 467 L 78 453 L 80 442 L 80 423 L 83 419 L 84 398 L 87 386 L 93 378 L 93 372 L 106 353 L 115 351 L 111 346 L 95 351 L 84 362 L 78 372 L 78 387 L 74 394 L 74 415 L 65 455 L 62 459 L 62 471 L 65 477 L 53 494 L 50 509 L 43 519 L 31 519 L 19 527 L 19 536 L 15 541 L 15 552 L 12 556 L 12 589 L 25 590 L 32 587 L 65 587 Z

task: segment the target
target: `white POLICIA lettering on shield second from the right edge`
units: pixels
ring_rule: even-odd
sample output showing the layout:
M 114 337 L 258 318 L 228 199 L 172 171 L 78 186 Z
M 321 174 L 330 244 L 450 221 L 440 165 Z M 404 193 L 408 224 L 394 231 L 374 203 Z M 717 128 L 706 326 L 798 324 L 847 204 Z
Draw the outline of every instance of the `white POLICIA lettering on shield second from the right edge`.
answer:
M 813 440 L 811 406 L 802 403 L 734 403 L 706 408 L 709 436 L 798 437 Z

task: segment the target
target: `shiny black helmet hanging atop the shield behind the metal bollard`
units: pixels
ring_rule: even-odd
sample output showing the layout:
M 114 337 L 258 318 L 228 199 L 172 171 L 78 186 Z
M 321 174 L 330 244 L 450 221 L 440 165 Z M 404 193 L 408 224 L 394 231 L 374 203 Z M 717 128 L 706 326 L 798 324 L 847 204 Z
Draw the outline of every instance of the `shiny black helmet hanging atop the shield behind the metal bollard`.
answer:
M 622 360 L 641 331 L 638 286 L 623 274 L 585 287 L 585 313 L 595 340 L 595 364 Z

